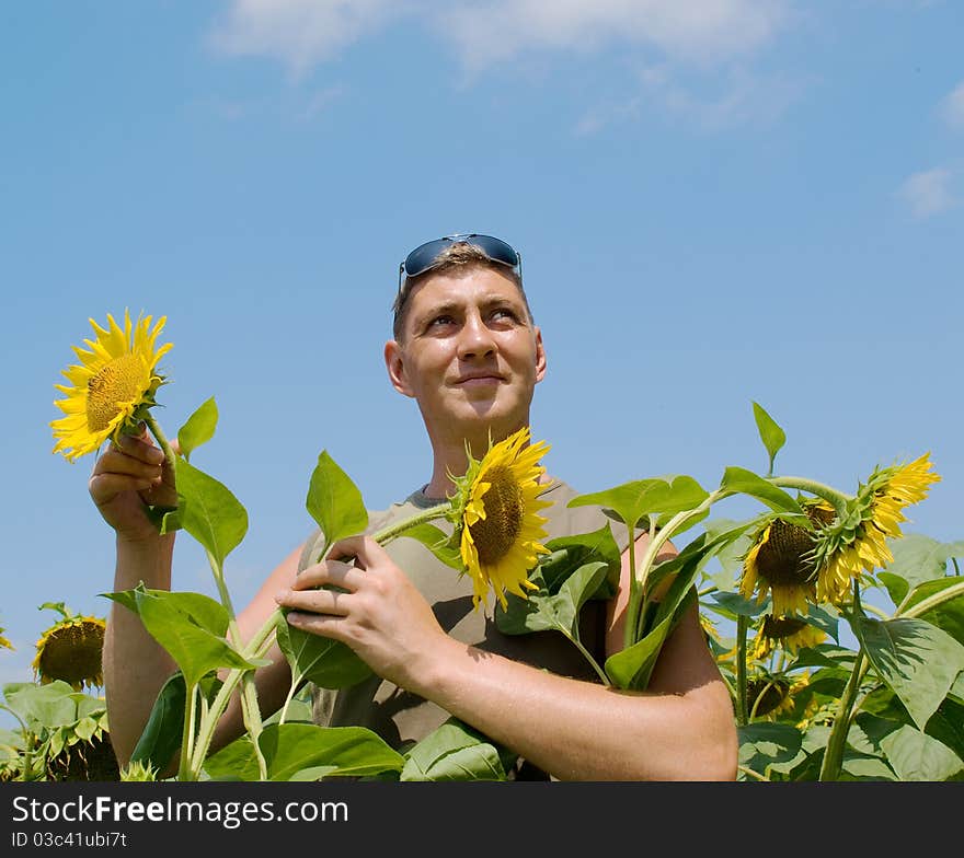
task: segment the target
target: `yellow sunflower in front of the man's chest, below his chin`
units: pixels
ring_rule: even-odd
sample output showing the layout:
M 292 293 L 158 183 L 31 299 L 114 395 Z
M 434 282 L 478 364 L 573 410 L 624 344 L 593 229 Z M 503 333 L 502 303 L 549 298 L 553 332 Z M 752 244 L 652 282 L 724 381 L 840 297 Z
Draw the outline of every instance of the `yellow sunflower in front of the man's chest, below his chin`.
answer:
M 454 478 L 454 537 L 472 578 L 477 608 L 490 588 L 503 607 L 506 591 L 526 598 L 527 589 L 536 589 L 528 573 L 539 555 L 549 553 L 539 510 L 552 505 L 539 499 L 549 486 L 540 484 L 546 468 L 537 464 L 548 450 L 544 441 L 529 444 L 524 427 L 490 445 L 481 461 L 470 454 L 466 475 Z

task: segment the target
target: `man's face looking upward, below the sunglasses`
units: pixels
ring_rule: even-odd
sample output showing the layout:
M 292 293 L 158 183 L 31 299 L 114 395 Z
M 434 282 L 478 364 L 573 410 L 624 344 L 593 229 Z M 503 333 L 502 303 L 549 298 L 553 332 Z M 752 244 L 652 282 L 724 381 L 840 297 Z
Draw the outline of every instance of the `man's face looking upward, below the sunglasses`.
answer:
M 387 344 L 386 364 L 395 389 L 418 403 L 433 440 L 478 441 L 490 428 L 497 440 L 528 422 L 546 355 L 512 279 L 473 266 L 415 287 L 404 339 Z

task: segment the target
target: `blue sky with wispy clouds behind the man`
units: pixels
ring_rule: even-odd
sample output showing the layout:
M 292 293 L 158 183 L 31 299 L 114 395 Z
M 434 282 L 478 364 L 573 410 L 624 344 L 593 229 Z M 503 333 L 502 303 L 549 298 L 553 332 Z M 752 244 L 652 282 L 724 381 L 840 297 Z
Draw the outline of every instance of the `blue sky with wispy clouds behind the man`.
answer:
M 322 450 L 372 508 L 427 478 L 381 349 L 399 260 L 450 232 L 521 251 L 533 434 L 579 490 L 766 471 L 758 402 L 783 474 L 930 451 L 907 530 L 964 537 L 962 35 L 950 1 L 2 4 L 0 680 L 44 602 L 107 611 L 92 457 L 48 427 L 88 318 L 168 316 L 169 434 L 215 396 L 192 461 L 248 509 L 243 604 Z M 187 538 L 175 566 L 214 593 Z

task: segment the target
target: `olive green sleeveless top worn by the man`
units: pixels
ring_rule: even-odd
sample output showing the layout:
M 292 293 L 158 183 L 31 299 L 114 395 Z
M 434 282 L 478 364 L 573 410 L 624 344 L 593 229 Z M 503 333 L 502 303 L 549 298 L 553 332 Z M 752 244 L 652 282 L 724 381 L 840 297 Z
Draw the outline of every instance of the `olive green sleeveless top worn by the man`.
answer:
M 539 513 L 547 519 L 547 541 L 598 531 L 604 523 L 609 523 L 620 552 L 624 550 L 628 544 L 626 527 L 610 520 L 599 507 L 566 507 L 577 494 L 567 484 L 555 482 L 541 496 L 543 500 L 552 502 L 551 507 L 540 510 Z M 438 502 L 422 490 L 414 491 L 401 503 L 369 513 L 366 532 L 374 533 Z M 441 520 L 434 524 L 447 534 L 451 533 L 450 522 Z M 323 545 L 323 535 L 320 530 L 315 530 L 305 544 L 299 572 L 317 560 Z M 386 550 L 425 596 L 439 625 L 451 637 L 560 675 L 599 681 L 585 656 L 558 631 L 532 631 L 526 635 L 501 633 L 493 617 L 486 615 L 491 614 L 493 596 L 490 594 L 489 612 L 483 605 L 474 608 L 469 576 L 460 575 L 458 570 L 446 566 L 417 540 L 398 537 L 386 546 Z M 598 664 L 606 660 L 605 633 L 606 603 L 599 600 L 586 602 L 579 616 L 579 639 Z M 336 691 L 312 687 L 311 693 L 317 723 L 367 727 L 400 752 L 426 737 L 449 717 L 448 712 L 434 703 L 379 676 L 371 676 Z M 533 712 L 533 717 L 538 717 L 538 714 Z M 521 776 L 540 777 L 535 772 Z

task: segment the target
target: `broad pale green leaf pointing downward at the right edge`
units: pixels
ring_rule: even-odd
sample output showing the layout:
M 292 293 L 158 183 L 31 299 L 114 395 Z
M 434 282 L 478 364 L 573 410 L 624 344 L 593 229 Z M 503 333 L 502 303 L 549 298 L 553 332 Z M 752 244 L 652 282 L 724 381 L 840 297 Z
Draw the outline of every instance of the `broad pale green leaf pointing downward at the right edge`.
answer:
M 859 616 L 851 627 L 877 675 L 923 730 L 964 670 L 964 646 L 922 619 Z

